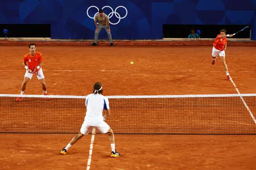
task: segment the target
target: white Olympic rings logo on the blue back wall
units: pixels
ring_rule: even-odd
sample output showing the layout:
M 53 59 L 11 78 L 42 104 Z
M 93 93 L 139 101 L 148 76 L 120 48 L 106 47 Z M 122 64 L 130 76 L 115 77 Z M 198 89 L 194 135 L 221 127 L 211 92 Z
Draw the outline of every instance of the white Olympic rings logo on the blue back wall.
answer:
M 89 15 L 89 13 L 88 13 L 88 11 L 89 11 L 91 8 L 96 8 L 98 11 L 99 11 L 99 8 L 96 7 L 96 6 L 90 6 L 90 7 L 87 9 L 87 11 L 86 11 L 87 16 L 88 16 L 89 18 L 91 18 L 91 19 L 94 20 L 95 16 L 96 16 L 99 12 L 96 12 L 96 13 L 94 14 L 94 16 L 91 17 L 91 16 Z M 113 8 L 110 7 L 110 6 L 104 6 L 102 9 L 104 9 L 104 8 L 110 8 L 110 10 L 112 11 L 112 12 L 110 12 L 110 13 L 107 15 L 107 16 L 108 16 L 108 19 L 110 19 L 111 17 L 113 17 L 114 14 L 115 14 L 116 18 L 118 19 L 118 21 L 117 21 L 116 23 L 112 23 L 112 22 L 109 21 L 109 23 L 111 23 L 112 25 L 118 24 L 118 23 L 121 21 L 121 19 L 124 19 L 124 18 L 127 16 L 127 14 L 128 14 L 128 11 L 127 11 L 127 9 L 126 9 L 124 6 L 118 6 L 118 7 L 116 7 L 115 11 L 114 11 Z M 125 16 L 121 17 L 120 14 L 119 14 L 118 12 L 116 12 L 118 8 L 123 8 L 123 9 L 125 9 L 125 11 L 126 11 Z

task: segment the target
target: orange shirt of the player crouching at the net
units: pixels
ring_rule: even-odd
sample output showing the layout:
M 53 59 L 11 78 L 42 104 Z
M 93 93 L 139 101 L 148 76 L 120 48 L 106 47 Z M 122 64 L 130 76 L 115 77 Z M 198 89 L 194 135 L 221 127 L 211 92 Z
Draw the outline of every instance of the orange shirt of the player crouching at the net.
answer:
M 43 61 L 43 56 L 41 53 L 35 52 L 34 56 L 31 56 L 29 53 L 24 55 L 23 62 L 27 64 L 30 70 L 33 70 L 40 62 Z

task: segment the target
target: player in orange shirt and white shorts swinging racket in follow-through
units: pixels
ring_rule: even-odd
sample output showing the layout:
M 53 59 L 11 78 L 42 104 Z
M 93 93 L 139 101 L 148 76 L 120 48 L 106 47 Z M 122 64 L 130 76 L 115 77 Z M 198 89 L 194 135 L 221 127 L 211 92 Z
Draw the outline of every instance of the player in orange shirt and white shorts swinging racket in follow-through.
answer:
M 225 61 L 225 50 L 227 48 L 227 42 L 228 39 L 226 37 L 233 37 L 233 34 L 227 34 L 226 35 L 226 30 L 225 29 L 221 29 L 220 34 L 217 35 L 217 37 L 215 38 L 214 42 L 213 42 L 213 47 L 212 47 L 212 65 L 215 64 L 215 61 L 217 59 L 217 55 L 219 54 L 222 64 L 224 66 L 224 70 L 226 72 L 227 75 L 227 79 L 230 80 L 230 74 L 228 72 L 228 66 L 226 64 Z

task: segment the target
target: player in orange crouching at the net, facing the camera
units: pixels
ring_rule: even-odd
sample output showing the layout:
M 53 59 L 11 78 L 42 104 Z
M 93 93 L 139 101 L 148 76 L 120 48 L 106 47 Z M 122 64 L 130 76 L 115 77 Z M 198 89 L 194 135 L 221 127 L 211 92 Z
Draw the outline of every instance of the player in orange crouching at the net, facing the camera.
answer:
M 16 102 L 20 102 L 23 99 L 23 93 L 26 89 L 27 82 L 32 79 L 35 74 L 37 79 L 42 83 L 43 86 L 43 95 L 47 95 L 45 76 L 43 74 L 42 65 L 43 65 L 43 56 L 41 53 L 35 51 L 35 43 L 30 43 L 28 45 L 29 53 L 24 55 L 23 65 L 26 69 L 24 75 L 24 80 L 21 87 L 21 96 L 16 98 Z M 49 98 L 46 98 L 49 99 Z

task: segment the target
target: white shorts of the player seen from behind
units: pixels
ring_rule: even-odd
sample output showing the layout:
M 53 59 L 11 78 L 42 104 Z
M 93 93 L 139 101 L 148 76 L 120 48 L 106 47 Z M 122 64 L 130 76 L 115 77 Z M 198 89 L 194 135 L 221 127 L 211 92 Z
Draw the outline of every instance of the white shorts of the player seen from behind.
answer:
M 88 135 L 88 133 L 93 129 L 93 127 L 99 130 L 101 133 L 107 133 L 110 129 L 110 127 L 105 121 L 101 121 L 98 123 L 90 123 L 87 120 L 84 120 L 80 132 L 83 135 Z

